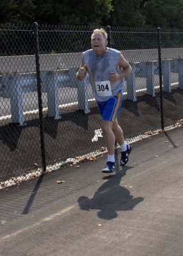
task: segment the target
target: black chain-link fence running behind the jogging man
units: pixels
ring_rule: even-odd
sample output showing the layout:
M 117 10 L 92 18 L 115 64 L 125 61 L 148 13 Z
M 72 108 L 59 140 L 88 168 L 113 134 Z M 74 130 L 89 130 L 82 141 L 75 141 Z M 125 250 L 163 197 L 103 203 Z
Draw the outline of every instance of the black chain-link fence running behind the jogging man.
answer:
M 75 76 L 95 28 L 0 25 L 0 188 L 104 150 L 90 83 Z M 133 70 L 118 118 L 125 138 L 182 124 L 183 31 L 104 29 Z

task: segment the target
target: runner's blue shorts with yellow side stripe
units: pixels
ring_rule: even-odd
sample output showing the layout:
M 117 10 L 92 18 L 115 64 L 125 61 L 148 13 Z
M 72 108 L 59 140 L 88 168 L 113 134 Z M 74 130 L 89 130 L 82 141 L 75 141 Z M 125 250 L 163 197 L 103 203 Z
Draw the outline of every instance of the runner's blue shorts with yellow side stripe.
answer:
M 104 102 L 97 102 L 102 120 L 115 121 L 121 109 L 123 91 L 120 90 L 115 96 Z

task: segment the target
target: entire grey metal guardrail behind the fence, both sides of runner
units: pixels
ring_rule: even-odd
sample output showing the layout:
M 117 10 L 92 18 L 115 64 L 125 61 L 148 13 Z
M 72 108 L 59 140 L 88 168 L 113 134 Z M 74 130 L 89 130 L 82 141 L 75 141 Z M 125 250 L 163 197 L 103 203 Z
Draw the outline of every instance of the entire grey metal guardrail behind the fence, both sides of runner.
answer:
M 132 74 L 127 77 L 127 99 L 136 101 L 136 77 L 145 77 L 147 94 L 155 96 L 155 74 L 159 74 L 158 61 L 131 63 Z M 162 60 L 163 90 L 171 92 L 171 72 L 178 73 L 179 88 L 183 89 L 183 59 Z M 77 88 L 78 109 L 90 113 L 88 108 L 88 77 L 77 81 L 76 68 L 40 72 L 42 92 L 47 93 L 48 116 L 60 119 L 59 90 Z M 24 124 L 22 94 L 36 92 L 36 72 L 4 74 L 0 77 L 0 97 L 10 98 L 12 122 Z

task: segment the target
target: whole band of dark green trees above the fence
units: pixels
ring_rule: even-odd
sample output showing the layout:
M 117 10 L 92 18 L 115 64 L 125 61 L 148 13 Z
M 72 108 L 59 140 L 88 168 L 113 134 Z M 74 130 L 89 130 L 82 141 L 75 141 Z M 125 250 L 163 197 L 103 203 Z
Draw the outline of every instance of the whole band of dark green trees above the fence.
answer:
M 0 12 L 0 23 L 183 27 L 183 0 L 1 0 Z

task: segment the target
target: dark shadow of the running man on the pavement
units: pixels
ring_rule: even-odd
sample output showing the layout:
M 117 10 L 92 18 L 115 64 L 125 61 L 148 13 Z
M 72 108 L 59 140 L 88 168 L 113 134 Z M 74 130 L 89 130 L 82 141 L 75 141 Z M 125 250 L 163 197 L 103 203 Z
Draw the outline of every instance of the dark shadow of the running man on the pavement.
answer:
M 127 188 L 120 186 L 120 180 L 129 170 L 129 166 L 124 166 L 122 171 L 116 175 L 106 177 L 107 182 L 102 184 L 95 192 L 93 198 L 81 196 L 78 203 L 81 210 L 90 211 L 90 209 L 99 210 L 97 215 L 103 220 L 112 220 L 118 216 L 117 211 L 131 211 L 134 207 L 143 201 L 143 197 L 131 195 Z

